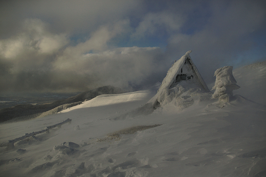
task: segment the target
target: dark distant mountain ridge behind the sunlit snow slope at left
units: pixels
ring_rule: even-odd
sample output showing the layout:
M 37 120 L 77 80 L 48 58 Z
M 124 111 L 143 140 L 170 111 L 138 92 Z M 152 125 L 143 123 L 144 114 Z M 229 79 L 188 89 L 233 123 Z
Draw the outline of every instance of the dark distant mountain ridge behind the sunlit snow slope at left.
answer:
M 38 117 L 44 112 L 48 112 L 58 106 L 58 109 L 75 106 L 81 104 L 82 101 L 93 99 L 102 94 L 121 94 L 124 93 L 120 88 L 111 85 L 98 87 L 97 89 L 86 91 L 76 96 L 57 100 L 52 103 L 45 104 L 18 104 L 13 107 L 3 108 L 0 110 L 0 123 L 13 119 L 27 120 Z M 63 106 L 65 105 L 65 106 Z M 57 109 L 57 110 L 58 110 Z

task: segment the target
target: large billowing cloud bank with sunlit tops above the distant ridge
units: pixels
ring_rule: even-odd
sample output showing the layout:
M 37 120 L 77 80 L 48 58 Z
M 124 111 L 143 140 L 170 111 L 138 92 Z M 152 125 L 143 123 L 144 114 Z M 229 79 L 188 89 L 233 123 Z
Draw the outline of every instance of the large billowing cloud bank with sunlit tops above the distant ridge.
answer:
M 2 74 L 7 82 L 2 91 L 75 92 L 109 84 L 132 89 L 157 82 L 153 77 L 143 83 L 156 72 L 166 72 L 160 48 L 109 49 L 109 41 L 130 31 L 129 20 L 100 26 L 75 46 L 39 19 L 27 19 L 23 26 L 0 41 L 1 61 L 9 66 Z

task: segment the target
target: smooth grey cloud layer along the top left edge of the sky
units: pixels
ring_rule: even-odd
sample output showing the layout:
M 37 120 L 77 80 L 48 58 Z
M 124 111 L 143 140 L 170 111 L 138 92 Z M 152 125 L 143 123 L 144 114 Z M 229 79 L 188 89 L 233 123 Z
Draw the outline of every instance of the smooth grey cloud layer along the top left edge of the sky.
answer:
M 109 21 L 141 11 L 140 1 L 1 1 L 0 37 L 17 32 L 25 18 L 47 21 L 57 32 L 87 33 Z

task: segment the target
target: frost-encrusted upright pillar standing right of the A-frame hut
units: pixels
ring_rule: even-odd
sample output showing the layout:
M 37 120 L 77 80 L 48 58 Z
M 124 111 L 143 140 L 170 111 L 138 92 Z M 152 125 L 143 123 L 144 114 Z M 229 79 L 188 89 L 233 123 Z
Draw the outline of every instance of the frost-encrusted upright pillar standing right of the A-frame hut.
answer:
M 219 68 L 214 72 L 216 80 L 214 86 L 212 87 L 212 90 L 215 90 L 211 97 L 212 99 L 229 102 L 230 98 L 233 96 L 233 90 L 240 88 L 240 86 L 236 84 L 232 70 L 233 67 L 226 66 Z

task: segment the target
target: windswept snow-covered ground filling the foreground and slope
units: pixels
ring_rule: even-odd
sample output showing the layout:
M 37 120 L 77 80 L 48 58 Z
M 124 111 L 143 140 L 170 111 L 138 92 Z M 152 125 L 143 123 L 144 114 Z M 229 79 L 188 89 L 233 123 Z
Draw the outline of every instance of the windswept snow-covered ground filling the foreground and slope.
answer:
M 265 76 L 265 69 L 253 72 Z M 194 95 L 188 107 L 169 102 L 148 116 L 121 116 L 154 95 L 139 91 L 101 95 L 55 115 L 0 124 L 2 143 L 72 119 L 13 149 L 1 147 L 0 176 L 265 176 L 266 108 L 263 101 L 254 102 L 265 98 L 260 89 L 265 80 L 244 87 L 237 82 L 239 93 L 253 101 L 235 96 L 219 104 L 190 90 L 182 95 Z

